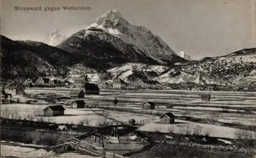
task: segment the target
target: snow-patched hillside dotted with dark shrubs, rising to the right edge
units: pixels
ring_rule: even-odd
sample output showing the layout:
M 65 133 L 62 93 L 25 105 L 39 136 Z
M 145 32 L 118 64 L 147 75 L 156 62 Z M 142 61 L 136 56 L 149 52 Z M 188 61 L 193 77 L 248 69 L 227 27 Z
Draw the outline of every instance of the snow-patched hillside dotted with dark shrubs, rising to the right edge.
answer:
M 255 82 L 255 77 L 251 72 L 256 69 L 255 49 L 244 49 L 226 56 L 205 57 L 199 61 L 186 62 L 175 66 L 165 72 L 156 80 L 159 82 L 198 82 L 199 74 L 207 83 L 226 82 L 242 84 Z M 250 75 L 249 75 L 250 74 Z M 250 77 L 248 77 L 248 75 Z M 254 79 L 254 81 L 252 81 Z

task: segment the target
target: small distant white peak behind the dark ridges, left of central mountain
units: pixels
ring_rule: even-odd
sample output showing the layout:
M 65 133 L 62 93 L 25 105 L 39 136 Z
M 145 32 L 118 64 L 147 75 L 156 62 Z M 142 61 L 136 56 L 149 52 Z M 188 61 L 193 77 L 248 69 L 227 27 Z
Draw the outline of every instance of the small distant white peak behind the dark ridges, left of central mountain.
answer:
M 62 34 L 60 30 L 55 29 L 48 36 L 45 37 L 43 42 L 49 44 L 50 46 L 57 46 L 66 39 L 67 37 L 64 34 Z

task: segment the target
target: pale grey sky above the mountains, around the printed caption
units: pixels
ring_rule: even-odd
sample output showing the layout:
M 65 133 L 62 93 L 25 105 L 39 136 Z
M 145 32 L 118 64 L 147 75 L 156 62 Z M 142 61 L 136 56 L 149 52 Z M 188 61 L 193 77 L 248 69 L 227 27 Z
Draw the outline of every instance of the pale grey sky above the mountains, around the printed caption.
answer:
M 132 25 L 159 35 L 177 54 L 193 59 L 256 47 L 256 0 L 1 0 L 1 34 L 42 41 L 55 29 L 70 36 L 111 9 Z M 42 11 L 14 11 L 41 6 Z M 90 6 L 90 11 L 45 7 Z

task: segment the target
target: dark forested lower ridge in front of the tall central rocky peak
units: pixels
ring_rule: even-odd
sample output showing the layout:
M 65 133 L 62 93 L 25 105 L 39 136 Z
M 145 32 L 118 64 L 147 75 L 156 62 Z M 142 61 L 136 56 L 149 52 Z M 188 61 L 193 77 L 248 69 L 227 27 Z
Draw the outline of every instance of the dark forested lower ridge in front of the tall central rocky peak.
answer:
M 125 63 L 157 63 L 143 52 L 134 49 L 118 37 L 101 31 L 82 30 L 61 43 L 58 48 L 74 55 L 84 56 L 86 61 Z

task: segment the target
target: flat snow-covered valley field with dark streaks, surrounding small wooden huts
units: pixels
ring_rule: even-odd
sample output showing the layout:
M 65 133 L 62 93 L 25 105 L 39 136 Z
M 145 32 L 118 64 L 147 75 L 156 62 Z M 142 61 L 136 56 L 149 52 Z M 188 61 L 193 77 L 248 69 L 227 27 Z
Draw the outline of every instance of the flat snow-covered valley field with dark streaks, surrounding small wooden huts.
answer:
M 27 94 L 46 95 L 55 94 L 68 97 L 70 91 L 48 91 L 26 89 Z M 256 124 L 256 95 L 249 92 L 209 92 L 210 101 L 204 101 L 198 98 L 198 94 L 207 93 L 200 91 L 101 91 L 100 95 L 88 95 L 84 101 L 87 105 L 96 106 L 96 108 L 72 109 L 67 101 L 62 99 L 55 104 L 62 104 L 65 110 L 65 116 L 50 117 L 52 122 L 56 123 L 74 123 L 79 124 L 81 120 L 89 120 L 90 125 L 96 125 L 102 122 L 124 121 L 135 119 L 136 121 L 151 118 L 152 123 L 142 126 L 141 130 L 160 130 L 167 132 L 169 128 L 174 128 L 174 132 L 180 132 L 184 128 L 192 131 L 200 126 L 202 132 L 211 131 L 211 136 L 234 138 L 236 128 L 224 127 L 219 124 L 207 124 L 191 121 L 177 120 L 177 124 L 164 125 L 157 123 L 155 116 L 144 114 L 134 114 L 129 112 L 111 111 L 97 108 L 114 107 L 113 100 L 118 100 L 117 108 L 132 109 L 134 111 L 152 112 L 152 114 L 162 114 L 164 112 L 173 112 L 179 117 L 193 117 L 205 120 L 215 120 L 219 123 L 233 123 L 237 125 L 255 125 Z M 141 103 L 152 101 L 156 104 L 154 110 L 142 110 Z M 5 104 L 1 108 L 18 110 L 21 115 L 33 114 L 33 111 L 42 110 L 51 104 Z M 153 119 L 154 118 L 154 119 Z M 158 119 L 158 117 L 156 117 Z M 157 129 L 159 128 L 159 129 Z

